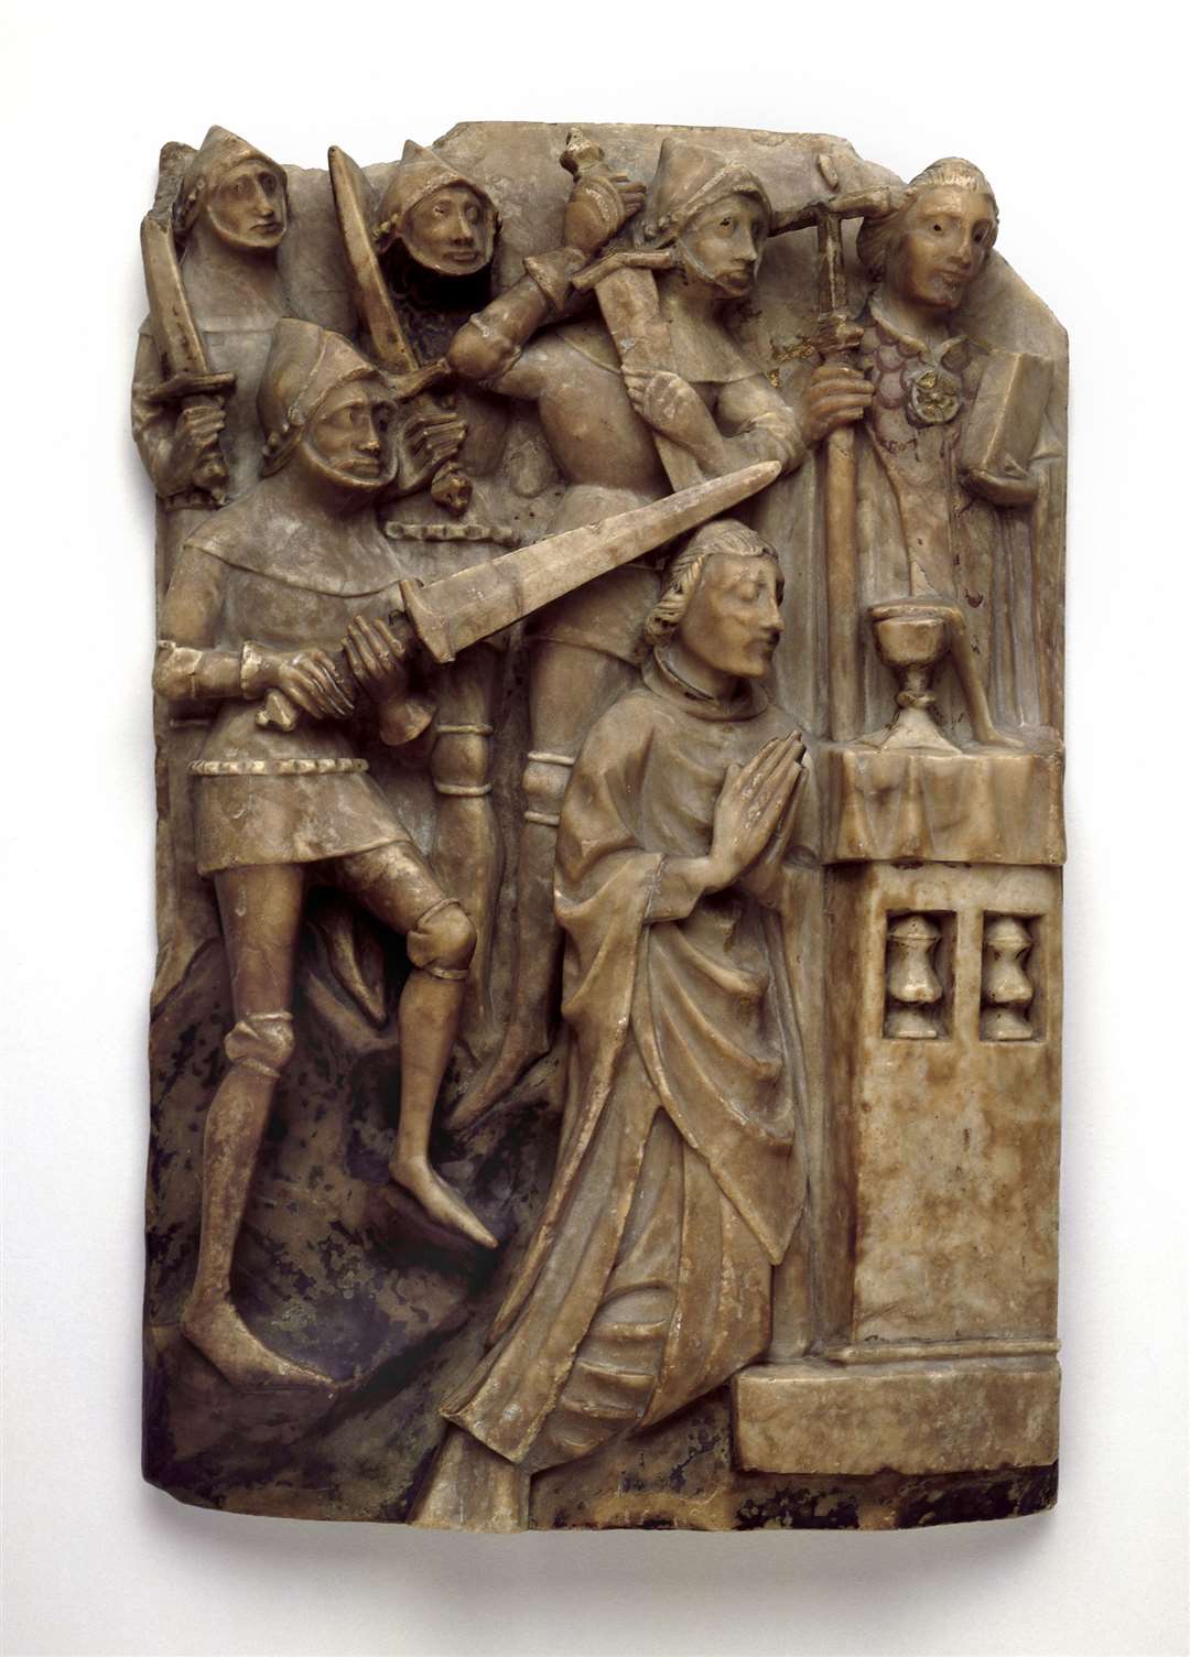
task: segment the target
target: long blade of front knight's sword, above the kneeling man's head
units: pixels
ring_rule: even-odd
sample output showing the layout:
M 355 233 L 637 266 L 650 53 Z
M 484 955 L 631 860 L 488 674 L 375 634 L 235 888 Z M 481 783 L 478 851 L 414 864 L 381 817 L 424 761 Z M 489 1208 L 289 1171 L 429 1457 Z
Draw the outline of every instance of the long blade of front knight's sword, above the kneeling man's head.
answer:
M 549 535 L 429 587 L 406 582 L 406 616 L 434 661 L 454 661 L 467 645 L 729 512 L 779 476 L 776 461 L 759 461 L 631 512 Z

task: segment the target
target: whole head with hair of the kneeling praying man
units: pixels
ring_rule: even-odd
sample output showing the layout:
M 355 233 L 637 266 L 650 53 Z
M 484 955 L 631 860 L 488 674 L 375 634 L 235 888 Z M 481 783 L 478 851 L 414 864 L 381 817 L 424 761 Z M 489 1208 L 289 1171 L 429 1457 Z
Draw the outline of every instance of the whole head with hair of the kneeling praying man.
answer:
M 665 648 L 678 638 L 718 673 L 762 679 L 781 640 L 784 590 L 772 547 L 738 519 L 716 519 L 670 565 L 645 640 Z

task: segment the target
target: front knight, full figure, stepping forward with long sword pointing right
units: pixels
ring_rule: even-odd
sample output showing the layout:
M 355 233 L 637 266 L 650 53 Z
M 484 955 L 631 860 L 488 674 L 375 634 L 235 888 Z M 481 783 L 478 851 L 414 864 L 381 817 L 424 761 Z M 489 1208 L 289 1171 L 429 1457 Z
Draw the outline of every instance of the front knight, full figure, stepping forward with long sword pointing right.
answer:
M 230 1294 L 262 1137 L 295 1051 L 293 966 L 312 885 L 346 891 L 406 938 L 393 1180 L 438 1223 L 496 1246 L 428 1155 L 474 928 L 368 774 L 376 742 L 406 746 L 433 719 L 411 676 L 414 651 L 449 661 L 731 510 L 776 474 L 751 467 L 419 590 L 401 580 L 373 514 L 398 466 L 403 389 L 341 336 L 278 323 L 260 388 L 265 476 L 191 535 L 162 606 L 154 688 L 169 701 L 219 704 L 192 766 L 197 862 L 219 896 L 237 1021 L 207 1112 L 199 1264 L 182 1329 L 237 1387 L 330 1385 L 259 1341 Z

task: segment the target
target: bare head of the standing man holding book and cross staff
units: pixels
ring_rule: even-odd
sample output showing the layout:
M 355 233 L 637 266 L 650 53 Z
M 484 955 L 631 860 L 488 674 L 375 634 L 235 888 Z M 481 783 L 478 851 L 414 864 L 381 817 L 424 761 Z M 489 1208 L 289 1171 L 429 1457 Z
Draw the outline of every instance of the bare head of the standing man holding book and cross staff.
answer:
M 935 161 L 895 192 L 895 207 L 865 219 L 860 263 L 908 303 L 956 310 L 984 267 L 999 230 L 991 184 L 958 156 Z

